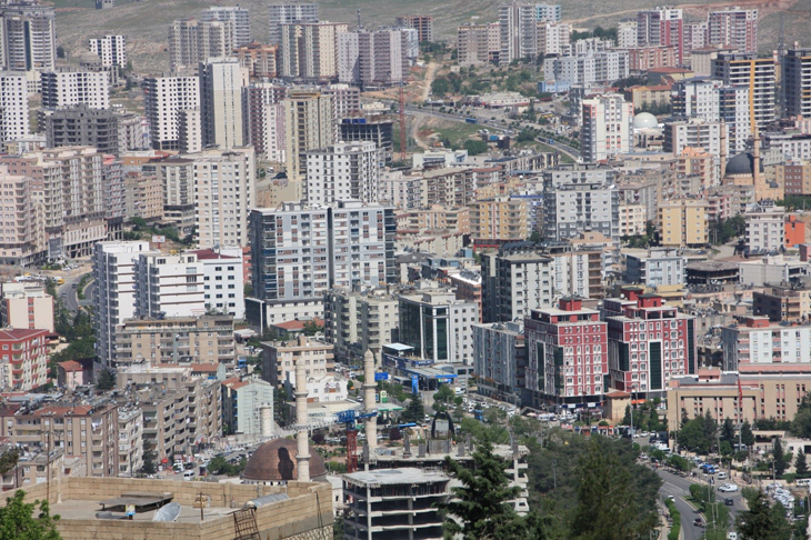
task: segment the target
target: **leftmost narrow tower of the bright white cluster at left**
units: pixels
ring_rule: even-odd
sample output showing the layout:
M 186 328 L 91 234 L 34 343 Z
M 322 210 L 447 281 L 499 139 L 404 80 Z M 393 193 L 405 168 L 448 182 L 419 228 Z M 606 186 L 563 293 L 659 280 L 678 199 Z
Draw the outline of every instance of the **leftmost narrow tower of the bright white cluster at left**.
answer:
M 136 261 L 149 242 L 99 242 L 93 251 L 96 350 L 101 363 L 116 360 L 116 328 L 136 316 Z

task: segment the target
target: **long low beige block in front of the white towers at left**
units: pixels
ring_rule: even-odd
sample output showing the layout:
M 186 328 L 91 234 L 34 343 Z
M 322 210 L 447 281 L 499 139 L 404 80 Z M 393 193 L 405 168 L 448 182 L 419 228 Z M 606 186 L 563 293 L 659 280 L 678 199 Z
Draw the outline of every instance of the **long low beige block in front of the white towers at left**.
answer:
M 129 366 L 150 361 L 233 362 L 231 316 L 128 319 L 116 331 L 116 363 Z

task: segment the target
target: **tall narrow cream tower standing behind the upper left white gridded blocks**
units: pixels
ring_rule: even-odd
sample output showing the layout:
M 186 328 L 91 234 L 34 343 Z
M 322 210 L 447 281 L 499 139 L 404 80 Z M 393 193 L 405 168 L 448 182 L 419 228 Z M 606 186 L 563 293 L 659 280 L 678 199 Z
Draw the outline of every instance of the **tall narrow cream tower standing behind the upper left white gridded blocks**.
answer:
M 200 116 L 203 147 L 222 150 L 246 144 L 242 89 L 249 73 L 236 58 L 208 59 L 200 63 Z

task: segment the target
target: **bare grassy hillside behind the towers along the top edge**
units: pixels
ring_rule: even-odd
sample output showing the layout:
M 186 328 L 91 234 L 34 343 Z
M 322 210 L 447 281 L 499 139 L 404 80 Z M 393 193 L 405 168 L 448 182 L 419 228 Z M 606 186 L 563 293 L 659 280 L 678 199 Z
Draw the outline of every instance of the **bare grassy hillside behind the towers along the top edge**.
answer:
M 93 0 L 53 0 L 58 10 L 57 31 L 59 42 L 70 54 L 82 52 L 88 38 L 106 32 L 123 33 L 130 42 L 131 58 L 138 71 L 159 71 L 168 68 L 163 53 L 167 47 L 168 23 L 174 19 L 196 17 L 213 1 L 203 0 L 144 0 L 140 2 L 118 0 L 111 10 L 93 9 Z M 223 2 L 230 3 L 230 2 Z M 268 37 L 268 3 L 260 0 L 241 0 L 241 6 L 251 10 L 253 37 L 266 40 Z M 457 26 L 472 21 L 492 21 L 497 18 L 497 0 L 400 0 L 380 2 L 373 0 L 324 0 L 320 1 L 321 19 L 346 21 L 354 24 L 357 10 L 361 10 L 367 26 L 391 24 L 398 14 L 421 13 L 434 17 L 437 39 L 454 40 Z M 602 0 L 599 13 L 594 13 L 594 2 L 574 0 L 567 2 L 563 14 L 577 27 L 590 28 L 608 26 L 633 17 L 644 7 L 662 3 L 659 0 Z M 687 10 L 689 19 L 705 17 L 705 4 L 673 2 Z M 785 11 L 787 41 L 803 36 L 811 21 L 811 0 L 741 0 L 709 1 L 711 6 L 745 6 L 761 10 L 761 52 L 773 49 L 778 40 L 779 11 Z M 811 43 L 807 43 L 811 44 Z

